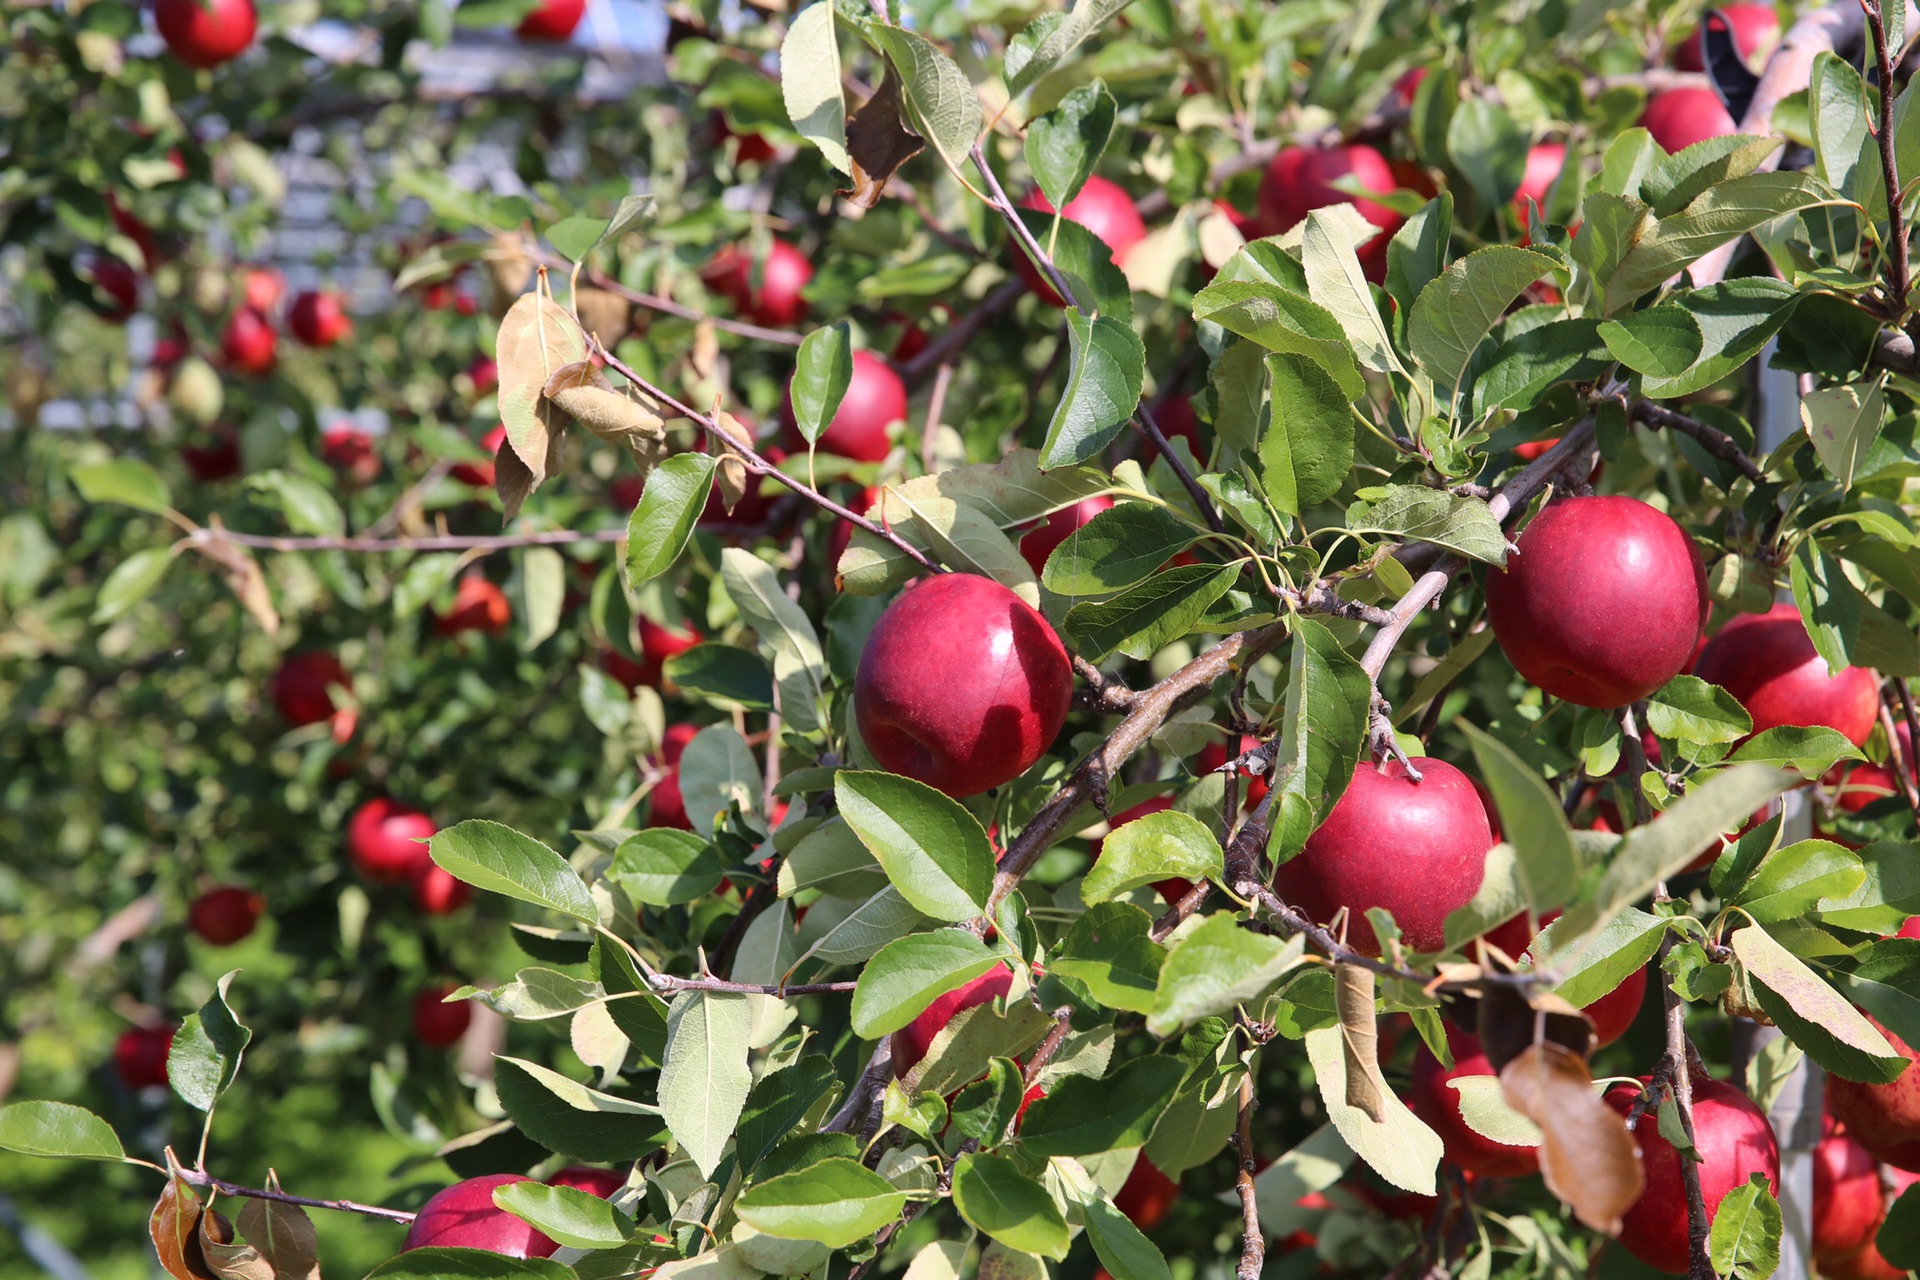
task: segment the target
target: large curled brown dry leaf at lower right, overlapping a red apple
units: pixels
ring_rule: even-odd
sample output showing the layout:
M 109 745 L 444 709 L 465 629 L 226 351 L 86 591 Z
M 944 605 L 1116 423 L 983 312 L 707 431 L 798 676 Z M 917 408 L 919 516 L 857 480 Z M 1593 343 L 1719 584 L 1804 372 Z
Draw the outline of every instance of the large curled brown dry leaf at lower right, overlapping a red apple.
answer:
M 1586 1057 L 1546 1042 L 1500 1069 L 1507 1105 L 1540 1126 L 1540 1176 L 1582 1222 L 1609 1236 L 1645 1186 L 1640 1148 L 1594 1092 Z

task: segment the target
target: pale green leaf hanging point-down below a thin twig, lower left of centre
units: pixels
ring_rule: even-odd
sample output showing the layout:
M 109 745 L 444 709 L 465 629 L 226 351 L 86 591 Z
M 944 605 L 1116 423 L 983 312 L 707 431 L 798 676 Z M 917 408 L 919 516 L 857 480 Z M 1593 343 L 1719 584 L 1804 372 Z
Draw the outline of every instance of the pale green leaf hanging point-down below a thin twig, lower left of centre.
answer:
M 751 1031 L 753 1006 L 733 992 L 687 990 L 666 1007 L 660 1113 L 703 1178 L 718 1169 L 747 1105 Z

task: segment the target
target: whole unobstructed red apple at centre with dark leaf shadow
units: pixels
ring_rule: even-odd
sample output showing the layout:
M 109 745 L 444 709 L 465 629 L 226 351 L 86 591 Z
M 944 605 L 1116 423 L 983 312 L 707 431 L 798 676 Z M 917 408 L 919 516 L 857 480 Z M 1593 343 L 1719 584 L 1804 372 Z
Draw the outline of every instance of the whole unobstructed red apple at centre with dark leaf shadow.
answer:
M 1025 773 L 1060 735 L 1071 699 L 1073 666 L 1046 618 L 973 574 L 902 591 L 874 624 L 854 679 L 874 758 L 950 796 Z

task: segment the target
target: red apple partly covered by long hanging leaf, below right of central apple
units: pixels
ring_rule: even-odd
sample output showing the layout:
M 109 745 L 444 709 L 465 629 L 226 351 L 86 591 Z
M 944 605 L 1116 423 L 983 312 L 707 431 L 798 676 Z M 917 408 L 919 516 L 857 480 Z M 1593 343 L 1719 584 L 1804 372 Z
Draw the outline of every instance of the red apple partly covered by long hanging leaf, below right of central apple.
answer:
M 1423 781 L 1398 760 L 1380 768 L 1363 760 L 1300 856 L 1275 871 L 1275 890 L 1309 919 L 1331 921 L 1346 908 L 1348 944 L 1367 956 L 1380 954 L 1367 923 L 1373 906 L 1394 913 L 1409 948 L 1438 952 L 1448 912 L 1480 889 L 1494 846 L 1465 773 L 1428 758 L 1413 768 Z

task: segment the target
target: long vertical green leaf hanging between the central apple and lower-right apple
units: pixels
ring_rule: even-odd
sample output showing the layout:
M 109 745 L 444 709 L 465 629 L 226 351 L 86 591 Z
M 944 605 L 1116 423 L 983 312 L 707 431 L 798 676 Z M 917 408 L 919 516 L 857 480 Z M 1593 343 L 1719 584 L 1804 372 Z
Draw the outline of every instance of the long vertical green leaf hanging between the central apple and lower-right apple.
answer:
M 1367 739 L 1373 681 L 1313 618 L 1294 618 L 1286 706 L 1273 758 L 1267 856 L 1286 862 L 1313 835 L 1354 781 Z

